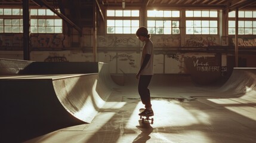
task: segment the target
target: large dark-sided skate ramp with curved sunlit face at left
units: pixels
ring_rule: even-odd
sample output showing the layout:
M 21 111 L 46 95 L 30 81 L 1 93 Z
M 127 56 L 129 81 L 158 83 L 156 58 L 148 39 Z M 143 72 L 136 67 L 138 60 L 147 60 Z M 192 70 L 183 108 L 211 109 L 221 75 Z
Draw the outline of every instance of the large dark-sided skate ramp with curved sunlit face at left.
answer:
M 0 77 L 1 126 L 5 130 L 1 142 L 21 142 L 53 130 L 90 123 L 114 86 L 109 66 L 104 63 L 47 66 L 0 60 L 0 64 L 0 73 L 5 73 Z

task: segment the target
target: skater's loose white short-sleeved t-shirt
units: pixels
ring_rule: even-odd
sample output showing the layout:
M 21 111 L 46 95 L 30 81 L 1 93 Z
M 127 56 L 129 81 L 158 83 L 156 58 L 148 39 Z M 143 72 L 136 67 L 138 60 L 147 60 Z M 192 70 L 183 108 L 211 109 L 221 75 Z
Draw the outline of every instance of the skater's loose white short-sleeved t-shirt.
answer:
M 141 62 L 142 65 L 146 54 L 151 55 L 149 63 L 147 63 L 146 67 L 141 71 L 141 75 L 153 75 L 154 74 L 154 49 L 153 49 L 153 42 L 149 39 L 143 45 L 142 55 L 141 55 Z

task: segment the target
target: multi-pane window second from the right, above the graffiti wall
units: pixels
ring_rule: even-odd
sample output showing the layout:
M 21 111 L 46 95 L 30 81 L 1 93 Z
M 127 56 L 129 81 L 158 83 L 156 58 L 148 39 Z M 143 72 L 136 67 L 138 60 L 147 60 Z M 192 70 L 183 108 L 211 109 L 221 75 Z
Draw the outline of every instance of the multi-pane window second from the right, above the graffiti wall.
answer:
M 218 11 L 193 10 L 186 11 L 187 35 L 217 35 Z

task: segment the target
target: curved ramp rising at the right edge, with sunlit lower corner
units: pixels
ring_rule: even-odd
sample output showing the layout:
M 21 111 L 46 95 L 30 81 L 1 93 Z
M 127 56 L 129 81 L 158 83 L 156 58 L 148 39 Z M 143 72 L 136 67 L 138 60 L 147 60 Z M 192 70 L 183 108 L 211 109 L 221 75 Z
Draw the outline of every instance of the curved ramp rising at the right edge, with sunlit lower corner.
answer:
M 229 92 L 236 97 L 256 97 L 256 68 L 234 68 L 229 80 L 221 86 L 220 92 Z

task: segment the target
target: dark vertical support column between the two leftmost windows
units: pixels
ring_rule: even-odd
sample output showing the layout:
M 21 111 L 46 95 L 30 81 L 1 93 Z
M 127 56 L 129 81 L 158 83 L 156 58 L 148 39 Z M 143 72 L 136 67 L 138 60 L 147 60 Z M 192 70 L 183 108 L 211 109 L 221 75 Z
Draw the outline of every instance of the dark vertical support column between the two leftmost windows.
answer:
M 29 51 L 29 0 L 23 0 L 23 60 L 30 60 Z

